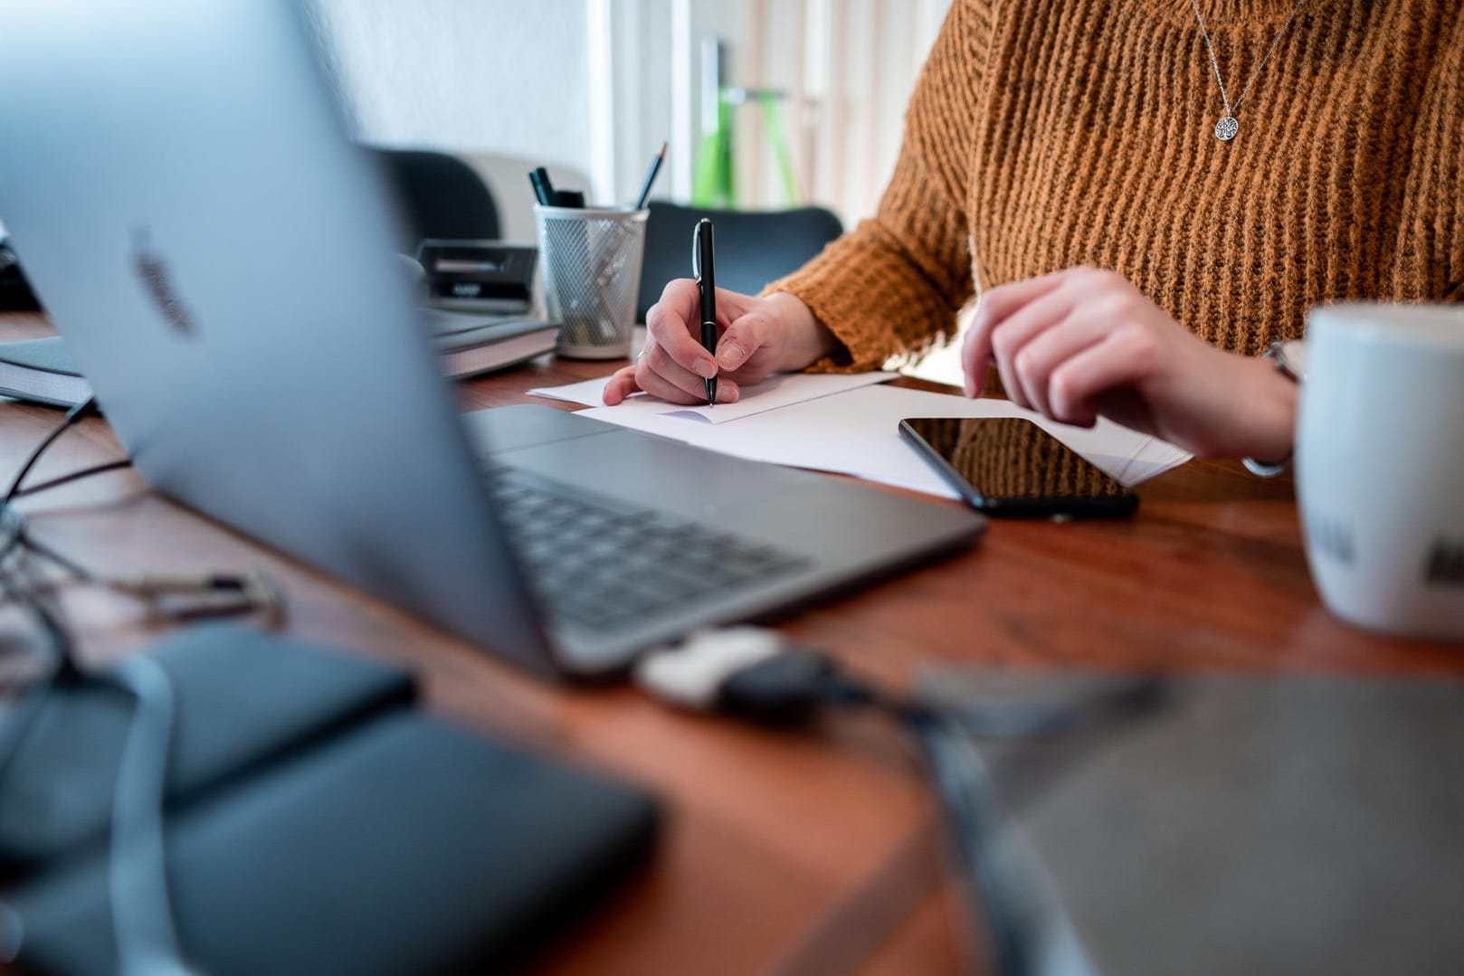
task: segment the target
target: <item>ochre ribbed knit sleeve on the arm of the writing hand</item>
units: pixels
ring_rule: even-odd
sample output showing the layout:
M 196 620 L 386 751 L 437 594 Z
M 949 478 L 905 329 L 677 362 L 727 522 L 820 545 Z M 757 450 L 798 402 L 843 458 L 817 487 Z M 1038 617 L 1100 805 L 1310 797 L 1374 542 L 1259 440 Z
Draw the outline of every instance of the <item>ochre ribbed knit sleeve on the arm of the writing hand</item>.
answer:
M 802 299 L 845 344 L 815 370 L 880 369 L 955 332 L 972 294 L 966 200 L 988 13 L 987 0 L 956 0 L 946 15 L 875 215 L 767 288 Z

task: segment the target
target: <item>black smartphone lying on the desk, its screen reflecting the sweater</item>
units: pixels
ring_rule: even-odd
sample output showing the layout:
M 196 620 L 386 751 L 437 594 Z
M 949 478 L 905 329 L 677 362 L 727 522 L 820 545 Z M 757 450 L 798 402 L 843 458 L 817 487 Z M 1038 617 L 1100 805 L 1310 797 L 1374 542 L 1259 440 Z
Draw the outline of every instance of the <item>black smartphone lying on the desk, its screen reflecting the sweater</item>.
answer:
M 905 438 L 972 508 L 1013 518 L 1132 515 L 1139 496 L 1019 417 L 906 417 Z

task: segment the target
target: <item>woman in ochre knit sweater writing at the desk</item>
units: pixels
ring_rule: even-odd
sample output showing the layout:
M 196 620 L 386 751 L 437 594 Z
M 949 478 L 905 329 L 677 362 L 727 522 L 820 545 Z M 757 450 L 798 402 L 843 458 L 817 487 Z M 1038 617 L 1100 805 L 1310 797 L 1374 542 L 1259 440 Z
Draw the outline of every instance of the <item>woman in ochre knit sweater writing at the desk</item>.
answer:
M 877 215 L 763 297 L 647 315 L 608 404 L 875 369 L 952 335 L 979 395 L 1199 455 L 1290 455 L 1259 354 L 1342 299 L 1460 300 L 1464 4 L 955 0 Z

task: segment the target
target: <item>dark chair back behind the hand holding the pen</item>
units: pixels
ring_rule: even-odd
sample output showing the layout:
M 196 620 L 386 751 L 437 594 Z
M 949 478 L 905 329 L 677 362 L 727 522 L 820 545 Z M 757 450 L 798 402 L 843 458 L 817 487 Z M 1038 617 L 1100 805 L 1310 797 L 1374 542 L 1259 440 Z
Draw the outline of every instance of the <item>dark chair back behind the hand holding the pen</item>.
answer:
M 691 277 L 691 231 L 703 217 L 710 217 L 716 228 L 717 287 L 748 294 L 757 294 L 767 282 L 796 271 L 843 233 L 839 218 L 821 206 L 712 211 L 653 200 L 646 221 L 646 259 L 635 306 L 641 322 L 668 281 Z

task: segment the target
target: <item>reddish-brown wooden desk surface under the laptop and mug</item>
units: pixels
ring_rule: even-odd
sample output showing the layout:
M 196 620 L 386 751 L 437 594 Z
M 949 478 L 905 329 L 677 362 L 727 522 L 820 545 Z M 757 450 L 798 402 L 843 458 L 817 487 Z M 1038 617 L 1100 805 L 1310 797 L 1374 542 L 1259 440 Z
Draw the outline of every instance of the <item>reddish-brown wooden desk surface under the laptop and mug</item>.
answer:
M 0 341 L 48 331 L 40 316 L 0 316 Z M 612 366 L 543 360 L 463 385 L 463 405 L 524 402 L 533 386 Z M 59 418 L 0 402 L 0 471 Z M 107 424 L 88 420 L 32 477 L 116 457 Z M 1458 648 L 1379 638 L 1322 609 L 1290 481 L 1192 462 L 1139 493 L 1132 521 L 993 522 L 976 549 L 782 629 L 895 683 L 925 663 L 1464 672 Z M 435 710 L 659 790 L 669 818 L 649 874 L 548 947 L 534 973 L 959 972 L 931 808 L 877 724 L 779 735 L 676 714 L 630 688 L 549 688 L 161 499 L 132 471 L 23 505 L 40 540 L 97 569 L 266 569 L 288 593 L 291 634 L 404 661 Z M 69 588 L 64 606 L 92 660 L 157 634 L 120 597 Z

